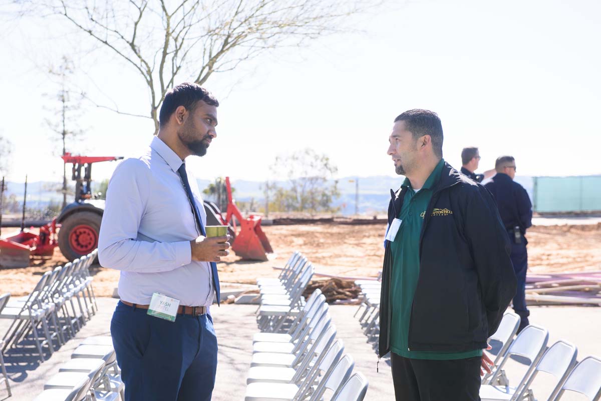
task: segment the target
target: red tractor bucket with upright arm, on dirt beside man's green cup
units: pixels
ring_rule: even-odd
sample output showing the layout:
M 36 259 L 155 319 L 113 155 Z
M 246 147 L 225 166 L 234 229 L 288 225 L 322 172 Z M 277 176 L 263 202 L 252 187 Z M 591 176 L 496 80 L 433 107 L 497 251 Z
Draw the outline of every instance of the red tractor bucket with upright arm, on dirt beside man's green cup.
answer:
M 236 217 L 240 223 L 240 232 L 236 234 L 236 239 L 231 249 L 242 259 L 251 261 L 267 261 L 267 255 L 273 253 L 273 249 L 267 240 L 267 236 L 261 230 L 261 216 L 251 214 L 243 218 L 242 213 L 234 203 L 231 197 L 230 177 L 225 177 L 227 187 L 228 205 L 225 222 L 230 222 L 232 217 Z M 234 229 L 236 225 L 234 223 Z

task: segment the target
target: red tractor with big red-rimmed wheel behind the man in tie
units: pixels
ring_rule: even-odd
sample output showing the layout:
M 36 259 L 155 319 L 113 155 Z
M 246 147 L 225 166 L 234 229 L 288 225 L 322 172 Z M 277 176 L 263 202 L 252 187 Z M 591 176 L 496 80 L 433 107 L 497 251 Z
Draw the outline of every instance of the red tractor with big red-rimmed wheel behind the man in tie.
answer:
M 105 201 L 96 199 L 92 194 L 92 164 L 120 160 L 123 157 L 73 156 L 70 153 L 61 157 L 65 163 L 73 164 L 75 202 L 67 205 L 56 218 L 56 222 L 61 224 L 58 230 L 58 247 L 65 258 L 73 261 L 87 255 L 98 246 L 100 222 L 105 211 Z

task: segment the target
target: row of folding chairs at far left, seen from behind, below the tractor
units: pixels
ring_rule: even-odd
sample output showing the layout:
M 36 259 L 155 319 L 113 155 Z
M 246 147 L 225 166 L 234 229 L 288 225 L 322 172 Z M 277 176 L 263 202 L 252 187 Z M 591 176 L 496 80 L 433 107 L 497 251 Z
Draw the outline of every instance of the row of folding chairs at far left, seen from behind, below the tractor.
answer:
M 12 322 L 2 338 L 2 352 L 23 348 L 28 340 L 44 361 L 44 348 L 50 355 L 96 314 L 98 307 L 92 286 L 90 265 L 97 250 L 64 266 L 44 273 L 33 291 L 11 299 L 0 295 L 0 319 Z

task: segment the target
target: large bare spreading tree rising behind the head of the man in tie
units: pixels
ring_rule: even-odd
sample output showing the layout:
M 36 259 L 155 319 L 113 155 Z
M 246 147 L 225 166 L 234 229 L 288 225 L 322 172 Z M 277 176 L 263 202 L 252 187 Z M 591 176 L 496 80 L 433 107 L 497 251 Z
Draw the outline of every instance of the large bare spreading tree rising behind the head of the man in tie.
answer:
M 148 86 L 145 116 L 156 134 L 160 104 L 174 84 L 203 85 L 264 50 L 341 31 L 344 17 L 377 0 L 14 1 L 63 16 L 133 68 Z

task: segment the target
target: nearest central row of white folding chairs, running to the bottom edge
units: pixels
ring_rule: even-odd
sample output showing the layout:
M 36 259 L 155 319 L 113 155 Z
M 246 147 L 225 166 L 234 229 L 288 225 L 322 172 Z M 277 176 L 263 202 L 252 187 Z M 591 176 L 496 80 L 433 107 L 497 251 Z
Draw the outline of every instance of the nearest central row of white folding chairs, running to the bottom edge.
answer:
M 353 373 L 353 358 L 344 354 L 316 289 L 287 325 L 253 337 L 245 401 L 362 401 L 368 382 Z

